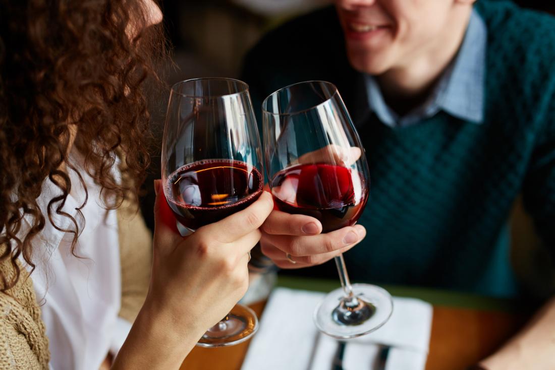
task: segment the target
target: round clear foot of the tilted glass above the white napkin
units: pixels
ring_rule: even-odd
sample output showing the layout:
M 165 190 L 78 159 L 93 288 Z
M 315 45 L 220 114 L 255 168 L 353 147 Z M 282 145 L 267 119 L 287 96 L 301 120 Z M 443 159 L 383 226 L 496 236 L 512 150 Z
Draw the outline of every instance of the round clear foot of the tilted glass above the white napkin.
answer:
M 360 337 L 383 326 L 393 313 L 391 295 L 379 286 L 353 284 L 356 305 L 346 301 L 343 288 L 326 295 L 314 311 L 314 322 L 322 332 L 337 339 Z

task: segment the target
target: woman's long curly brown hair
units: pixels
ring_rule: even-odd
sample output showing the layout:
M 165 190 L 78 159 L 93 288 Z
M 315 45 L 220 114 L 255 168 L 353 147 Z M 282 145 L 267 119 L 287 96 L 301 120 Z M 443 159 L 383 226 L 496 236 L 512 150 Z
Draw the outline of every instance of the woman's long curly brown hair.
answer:
M 162 27 L 147 27 L 143 0 L 0 0 L 0 8 L 0 263 L 10 260 L 15 271 L 0 276 L 6 292 L 19 279 L 20 256 L 34 268 L 32 241 L 45 216 L 73 233 L 75 254 L 78 224 L 62 211 L 73 139 L 104 199 L 116 200 L 108 209 L 137 195 L 150 158 L 142 86 L 165 48 Z M 114 178 L 114 153 L 133 186 Z M 44 215 L 37 197 L 46 179 L 62 195 Z M 73 227 L 54 225 L 54 214 Z

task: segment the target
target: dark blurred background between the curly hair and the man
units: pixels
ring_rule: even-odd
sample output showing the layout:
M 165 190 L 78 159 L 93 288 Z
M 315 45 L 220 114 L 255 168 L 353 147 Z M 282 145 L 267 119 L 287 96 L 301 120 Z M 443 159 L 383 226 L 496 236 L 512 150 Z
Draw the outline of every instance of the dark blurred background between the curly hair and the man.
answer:
M 514 1 L 523 7 L 555 13 L 553 1 Z M 159 0 L 171 54 L 167 65 L 162 66 L 162 77 L 168 88 L 154 94 L 150 104 L 157 147 L 141 206 L 151 229 L 154 223 L 153 180 L 160 178 L 159 151 L 169 86 L 198 77 L 237 78 L 246 52 L 264 33 L 330 3 L 331 0 Z

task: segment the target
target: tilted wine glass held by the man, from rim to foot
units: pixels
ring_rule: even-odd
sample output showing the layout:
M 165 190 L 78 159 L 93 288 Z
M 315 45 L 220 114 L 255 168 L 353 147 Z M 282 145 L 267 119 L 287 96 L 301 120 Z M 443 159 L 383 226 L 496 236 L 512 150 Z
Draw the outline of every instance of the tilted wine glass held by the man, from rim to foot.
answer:
M 368 200 L 369 168 L 335 85 L 289 85 L 266 98 L 262 108 L 266 174 L 278 209 L 315 217 L 322 232 L 356 224 Z M 393 312 L 390 294 L 351 284 L 343 256 L 335 262 L 341 288 L 316 308 L 316 326 L 341 339 L 380 328 Z

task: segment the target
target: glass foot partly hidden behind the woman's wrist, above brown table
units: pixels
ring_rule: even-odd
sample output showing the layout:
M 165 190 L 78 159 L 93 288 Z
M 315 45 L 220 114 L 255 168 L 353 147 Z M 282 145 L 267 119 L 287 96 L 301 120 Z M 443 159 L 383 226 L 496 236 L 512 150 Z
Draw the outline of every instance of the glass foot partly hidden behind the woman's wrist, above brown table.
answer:
M 258 318 L 249 307 L 235 305 L 224 320 L 209 330 L 196 343 L 199 347 L 234 346 L 246 341 L 258 330 Z

